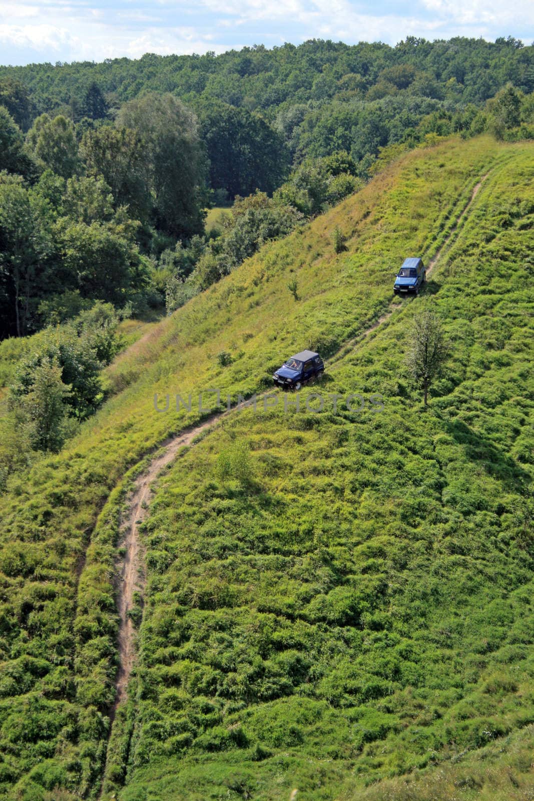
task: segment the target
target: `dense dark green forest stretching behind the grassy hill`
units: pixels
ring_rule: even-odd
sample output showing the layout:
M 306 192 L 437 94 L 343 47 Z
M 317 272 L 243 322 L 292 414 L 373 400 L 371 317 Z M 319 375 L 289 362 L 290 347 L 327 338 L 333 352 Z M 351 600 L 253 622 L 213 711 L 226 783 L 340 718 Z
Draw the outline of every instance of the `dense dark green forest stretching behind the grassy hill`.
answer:
M 361 187 L 387 147 L 528 137 L 532 55 L 407 38 L 0 68 L 0 336 L 95 300 L 172 311 Z

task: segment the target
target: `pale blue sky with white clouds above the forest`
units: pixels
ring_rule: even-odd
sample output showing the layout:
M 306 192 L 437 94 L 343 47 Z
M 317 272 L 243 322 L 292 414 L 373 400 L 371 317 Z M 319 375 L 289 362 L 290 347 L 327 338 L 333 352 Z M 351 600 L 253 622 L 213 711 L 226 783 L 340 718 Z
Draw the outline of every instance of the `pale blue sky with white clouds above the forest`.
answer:
M 221 53 L 307 38 L 395 44 L 512 35 L 531 44 L 532 0 L 0 0 L 0 63 Z

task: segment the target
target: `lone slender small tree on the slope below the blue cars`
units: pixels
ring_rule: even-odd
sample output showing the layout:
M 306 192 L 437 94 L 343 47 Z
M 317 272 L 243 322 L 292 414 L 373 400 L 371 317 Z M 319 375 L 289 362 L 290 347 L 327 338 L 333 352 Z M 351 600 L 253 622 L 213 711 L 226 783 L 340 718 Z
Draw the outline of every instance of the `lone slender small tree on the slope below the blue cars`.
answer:
M 438 317 L 428 309 L 416 314 L 407 355 L 412 378 L 424 390 L 424 405 L 428 405 L 428 389 L 443 368 L 448 355 L 443 330 Z

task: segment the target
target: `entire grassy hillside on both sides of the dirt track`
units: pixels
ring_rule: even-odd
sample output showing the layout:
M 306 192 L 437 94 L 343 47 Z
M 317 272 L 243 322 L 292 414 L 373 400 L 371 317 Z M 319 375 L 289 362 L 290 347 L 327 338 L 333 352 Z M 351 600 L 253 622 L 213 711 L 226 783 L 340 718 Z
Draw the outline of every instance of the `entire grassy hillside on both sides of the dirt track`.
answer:
M 489 139 L 406 155 L 156 325 L 108 369 L 116 395 L 76 440 L 14 477 L 0 499 L 0 792 L 98 795 L 119 513 L 139 460 L 201 417 L 156 413 L 154 393 L 235 401 L 303 347 L 332 357 L 325 392 L 379 392 L 384 410 L 233 413 L 169 471 L 144 524 L 139 667 L 107 790 L 356 798 L 534 722 L 533 165 L 532 145 Z M 400 260 L 437 252 L 484 175 L 426 296 L 391 300 Z M 453 345 L 427 410 L 403 366 L 424 303 Z

